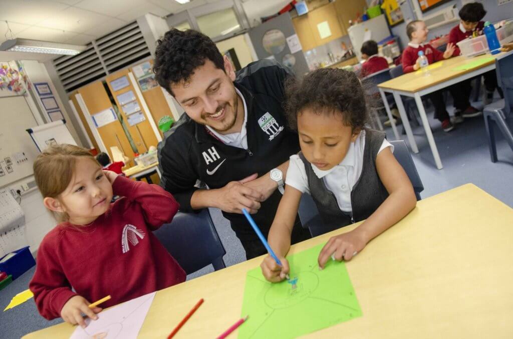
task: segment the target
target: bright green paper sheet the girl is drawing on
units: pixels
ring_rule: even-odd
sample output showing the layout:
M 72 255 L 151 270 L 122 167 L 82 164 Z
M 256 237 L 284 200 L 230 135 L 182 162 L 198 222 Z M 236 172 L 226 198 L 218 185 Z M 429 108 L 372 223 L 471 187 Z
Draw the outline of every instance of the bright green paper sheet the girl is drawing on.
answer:
M 344 262 L 331 259 L 321 271 L 317 258 L 324 244 L 287 258 L 290 278 L 270 283 L 260 267 L 248 271 L 242 313 L 248 320 L 239 327 L 239 338 L 293 338 L 362 315 Z

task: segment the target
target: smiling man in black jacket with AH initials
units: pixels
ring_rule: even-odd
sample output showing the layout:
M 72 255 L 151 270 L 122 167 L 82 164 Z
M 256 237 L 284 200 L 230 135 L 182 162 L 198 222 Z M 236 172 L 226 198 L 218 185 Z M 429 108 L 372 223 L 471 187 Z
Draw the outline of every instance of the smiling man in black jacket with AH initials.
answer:
M 217 56 L 211 56 L 208 51 L 211 40 L 205 38 L 194 31 L 171 30 L 157 46 L 156 79 L 186 111 L 159 144 L 161 185 L 173 194 L 183 211 L 220 207 L 250 259 L 263 255 L 266 250 L 241 214 L 241 206 L 253 212 L 255 222 L 267 237 L 282 197 L 269 172 L 279 168 L 285 176 L 289 156 L 300 150 L 298 135 L 286 127 L 283 112 L 284 82 L 290 71 L 278 62 L 260 60 L 235 75 L 226 57 L 220 61 Z M 201 56 L 198 51 L 207 45 L 203 65 L 197 60 L 200 65 L 194 65 L 194 60 L 189 61 L 193 57 L 183 52 L 182 46 L 195 39 L 200 40 L 199 46 L 192 44 L 195 56 Z M 173 52 L 169 53 L 170 50 Z M 193 72 L 173 78 L 183 70 L 169 72 L 173 67 L 169 55 L 173 66 L 180 56 L 183 58 L 178 62 L 180 67 L 184 67 L 185 61 L 191 62 Z M 224 63 L 224 73 L 220 62 Z M 235 116 L 233 125 L 229 121 L 231 114 Z M 221 140 L 224 136 L 235 136 L 245 142 L 228 145 Z M 258 174 L 258 179 L 253 174 Z M 195 187 L 197 180 L 210 190 Z M 238 201 L 230 204 L 228 198 L 232 194 Z M 308 230 L 297 219 L 292 243 L 309 237 Z

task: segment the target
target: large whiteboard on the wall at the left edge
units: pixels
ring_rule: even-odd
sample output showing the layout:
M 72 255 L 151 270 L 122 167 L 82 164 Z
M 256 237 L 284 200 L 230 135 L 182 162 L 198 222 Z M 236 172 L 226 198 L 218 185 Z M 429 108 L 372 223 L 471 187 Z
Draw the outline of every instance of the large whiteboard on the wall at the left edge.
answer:
M 23 95 L 0 97 L 0 187 L 33 174 L 37 148 L 25 130 L 36 124 Z

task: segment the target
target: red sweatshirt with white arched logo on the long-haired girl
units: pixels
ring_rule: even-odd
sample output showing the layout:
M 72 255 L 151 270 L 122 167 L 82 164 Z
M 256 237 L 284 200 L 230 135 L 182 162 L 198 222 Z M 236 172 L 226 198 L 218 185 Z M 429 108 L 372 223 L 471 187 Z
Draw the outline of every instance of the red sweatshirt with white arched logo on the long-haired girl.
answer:
M 61 316 L 74 295 L 102 307 L 125 302 L 185 281 L 185 272 L 153 235 L 180 205 L 163 188 L 118 176 L 112 184 L 123 198 L 89 226 L 57 225 L 37 251 L 29 284 L 46 319 Z M 71 290 L 74 288 L 76 293 Z

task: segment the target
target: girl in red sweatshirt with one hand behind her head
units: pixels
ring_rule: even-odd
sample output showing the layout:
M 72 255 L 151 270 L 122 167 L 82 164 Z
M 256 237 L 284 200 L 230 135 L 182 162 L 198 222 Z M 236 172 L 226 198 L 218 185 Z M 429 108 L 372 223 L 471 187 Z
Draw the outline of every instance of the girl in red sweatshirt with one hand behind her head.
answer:
M 179 204 L 163 188 L 103 171 L 85 149 L 55 145 L 37 156 L 34 176 L 46 208 L 62 223 L 37 250 L 30 290 L 46 319 L 85 327 L 81 313 L 106 295 L 104 307 L 185 281 L 185 272 L 152 231 Z M 113 192 L 123 198 L 110 204 Z M 72 290 L 73 289 L 73 290 Z

